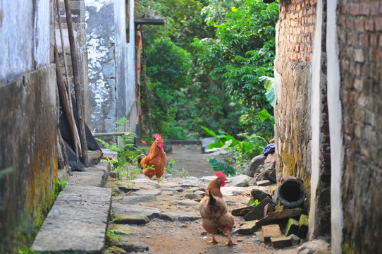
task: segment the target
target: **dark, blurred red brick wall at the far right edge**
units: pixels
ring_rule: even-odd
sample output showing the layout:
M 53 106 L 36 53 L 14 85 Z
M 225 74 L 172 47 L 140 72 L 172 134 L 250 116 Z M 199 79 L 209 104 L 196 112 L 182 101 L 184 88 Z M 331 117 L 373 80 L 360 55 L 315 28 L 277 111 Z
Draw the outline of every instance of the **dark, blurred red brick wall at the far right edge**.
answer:
M 381 252 L 382 1 L 339 0 L 343 252 Z

